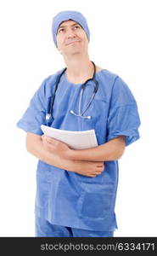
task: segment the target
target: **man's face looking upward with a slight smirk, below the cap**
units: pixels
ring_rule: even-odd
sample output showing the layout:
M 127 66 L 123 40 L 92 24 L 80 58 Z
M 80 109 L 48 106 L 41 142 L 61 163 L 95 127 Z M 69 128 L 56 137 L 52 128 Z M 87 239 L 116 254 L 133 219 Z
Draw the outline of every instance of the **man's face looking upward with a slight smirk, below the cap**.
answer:
M 74 55 L 87 51 L 87 34 L 75 20 L 67 20 L 60 24 L 56 40 L 62 55 Z

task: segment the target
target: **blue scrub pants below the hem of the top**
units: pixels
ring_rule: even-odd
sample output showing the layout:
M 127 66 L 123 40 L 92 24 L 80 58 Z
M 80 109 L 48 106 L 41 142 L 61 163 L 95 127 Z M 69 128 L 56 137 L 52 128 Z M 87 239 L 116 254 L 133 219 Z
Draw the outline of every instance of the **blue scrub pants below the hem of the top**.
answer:
M 51 237 L 111 237 L 114 231 L 80 230 L 60 225 L 54 225 L 47 219 L 36 216 L 36 236 Z

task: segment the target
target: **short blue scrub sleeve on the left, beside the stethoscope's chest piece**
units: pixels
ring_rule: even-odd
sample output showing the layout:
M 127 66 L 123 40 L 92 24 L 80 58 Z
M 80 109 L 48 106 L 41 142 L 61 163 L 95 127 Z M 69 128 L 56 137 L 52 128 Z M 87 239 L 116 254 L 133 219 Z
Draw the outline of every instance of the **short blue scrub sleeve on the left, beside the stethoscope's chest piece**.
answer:
M 46 79 L 42 81 L 41 86 L 32 96 L 29 107 L 25 110 L 17 126 L 26 132 L 32 132 L 36 135 L 42 135 L 41 125 L 45 125 L 46 116 Z

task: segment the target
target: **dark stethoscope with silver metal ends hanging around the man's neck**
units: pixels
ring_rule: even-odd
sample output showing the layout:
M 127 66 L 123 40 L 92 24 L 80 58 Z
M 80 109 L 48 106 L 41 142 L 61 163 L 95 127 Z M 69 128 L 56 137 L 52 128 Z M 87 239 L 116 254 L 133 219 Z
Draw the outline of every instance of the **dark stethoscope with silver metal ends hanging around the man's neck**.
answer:
M 95 94 L 98 91 L 98 81 L 95 79 L 95 73 L 96 73 L 96 67 L 93 61 L 91 61 L 93 63 L 93 67 L 94 67 L 94 73 L 93 73 L 93 78 L 92 79 L 87 79 L 87 81 L 84 84 L 81 84 L 81 93 L 80 93 L 80 98 L 79 98 L 79 113 L 75 113 L 74 110 L 70 110 L 71 114 L 74 114 L 78 117 L 84 118 L 84 119 L 91 119 L 92 117 L 90 115 L 88 116 L 83 116 L 84 113 L 87 112 L 87 109 L 90 107 L 91 103 L 93 102 L 93 98 L 95 96 Z M 53 122 L 53 116 L 52 116 L 52 112 L 53 112 L 53 102 L 54 102 L 54 98 L 56 95 L 56 90 L 58 89 L 58 85 L 59 85 L 59 81 L 62 77 L 62 75 L 64 74 L 64 72 L 66 71 L 67 67 L 64 68 L 64 70 L 59 74 L 56 83 L 53 87 L 53 95 L 50 98 L 50 102 L 49 102 L 49 108 L 48 108 L 48 113 L 46 115 L 46 122 L 47 125 L 49 125 L 51 122 Z M 82 96 L 83 93 L 85 91 L 86 88 L 86 84 L 89 81 L 93 81 L 94 82 L 94 89 L 93 89 L 93 96 L 91 97 L 90 101 L 87 104 L 87 108 L 81 113 L 81 101 L 82 101 Z

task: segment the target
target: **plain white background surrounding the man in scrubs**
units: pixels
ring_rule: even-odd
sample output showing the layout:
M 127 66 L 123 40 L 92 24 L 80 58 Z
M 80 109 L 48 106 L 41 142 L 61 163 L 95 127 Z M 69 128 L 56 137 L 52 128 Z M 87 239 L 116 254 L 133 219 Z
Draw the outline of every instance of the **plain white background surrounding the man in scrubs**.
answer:
M 140 139 L 119 160 L 115 236 L 157 235 L 157 38 L 154 0 L 1 1 L 0 236 L 34 236 L 37 159 L 16 127 L 42 80 L 64 67 L 53 16 L 80 11 L 91 32 L 90 59 L 121 76 L 137 100 Z

